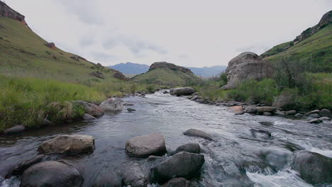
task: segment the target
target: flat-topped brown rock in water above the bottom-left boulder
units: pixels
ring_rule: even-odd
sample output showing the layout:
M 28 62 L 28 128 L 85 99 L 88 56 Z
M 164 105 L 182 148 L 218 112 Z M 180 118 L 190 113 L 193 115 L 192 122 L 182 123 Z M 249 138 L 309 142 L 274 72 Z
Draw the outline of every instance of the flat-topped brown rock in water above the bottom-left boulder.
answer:
M 94 150 L 94 137 L 89 135 L 58 135 L 38 147 L 41 154 L 80 154 Z

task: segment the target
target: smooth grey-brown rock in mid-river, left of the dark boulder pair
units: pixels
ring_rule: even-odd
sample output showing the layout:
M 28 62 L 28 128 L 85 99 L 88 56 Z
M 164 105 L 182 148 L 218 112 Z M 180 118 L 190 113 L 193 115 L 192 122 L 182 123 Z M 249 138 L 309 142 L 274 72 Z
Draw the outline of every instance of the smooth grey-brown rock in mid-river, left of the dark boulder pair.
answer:
M 167 152 L 165 138 L 160 133 L 133 137 L 126 142 L 126 152 L 131 157 L 163 155 Z

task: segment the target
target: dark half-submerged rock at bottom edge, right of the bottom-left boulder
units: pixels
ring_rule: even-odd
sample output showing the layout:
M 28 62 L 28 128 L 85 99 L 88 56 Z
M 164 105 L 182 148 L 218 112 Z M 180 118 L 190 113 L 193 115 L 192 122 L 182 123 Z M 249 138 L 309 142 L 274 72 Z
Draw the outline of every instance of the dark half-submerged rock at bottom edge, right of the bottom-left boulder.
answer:
M 96 177 L 92 187 L 122 187 L 123 181 L 122 177 L 119 174 L 116 174 L 112 171 L 102 171 Z

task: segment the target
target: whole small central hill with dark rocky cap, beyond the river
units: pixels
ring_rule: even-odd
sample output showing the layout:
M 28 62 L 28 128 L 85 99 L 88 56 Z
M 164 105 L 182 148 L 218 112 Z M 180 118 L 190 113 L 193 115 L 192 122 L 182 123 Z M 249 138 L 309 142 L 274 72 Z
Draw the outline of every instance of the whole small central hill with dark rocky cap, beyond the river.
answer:
M 167 86 L 191 85 L 201 81 L 190 69 L 167 62 L 153 63 L 148 72 L 133 77 L 133 80 Z

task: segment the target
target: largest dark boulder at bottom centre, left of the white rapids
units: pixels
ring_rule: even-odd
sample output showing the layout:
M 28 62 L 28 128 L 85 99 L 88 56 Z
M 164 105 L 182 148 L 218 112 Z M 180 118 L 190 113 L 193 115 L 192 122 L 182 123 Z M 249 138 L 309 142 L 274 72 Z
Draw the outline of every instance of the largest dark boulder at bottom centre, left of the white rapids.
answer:
M 176 177 L 192 179 L 199 176 L 204 156 L 189 152 L 179 152 L 151 169 L 154 181 L 164 183 Z

